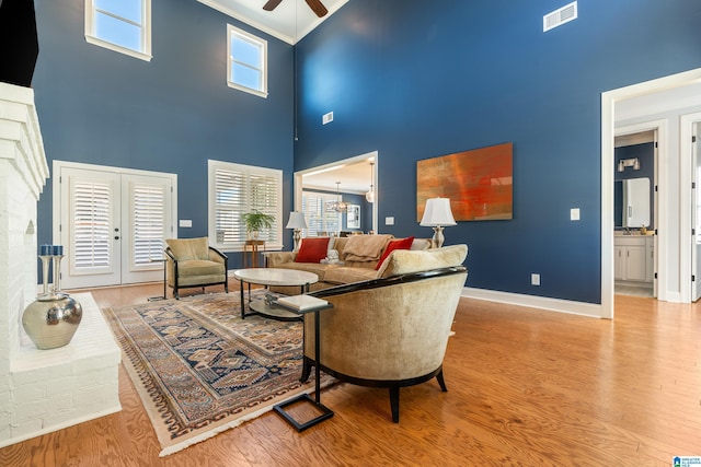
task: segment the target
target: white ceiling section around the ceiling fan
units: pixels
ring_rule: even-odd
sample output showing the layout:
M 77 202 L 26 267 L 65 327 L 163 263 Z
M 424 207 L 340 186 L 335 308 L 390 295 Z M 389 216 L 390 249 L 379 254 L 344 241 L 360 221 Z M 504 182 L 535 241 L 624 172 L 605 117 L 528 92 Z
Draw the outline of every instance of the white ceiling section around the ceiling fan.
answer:
M 297 44 L 348 0 L 322 0 L 329 14 L 318 17 L 304 0 L 283 0 L 273 11 L 263 10 L 267 0 L 197 0 L 288 44 Z

